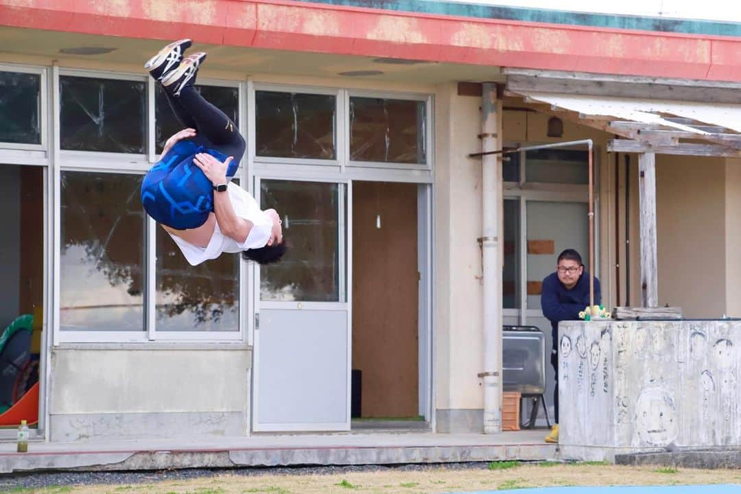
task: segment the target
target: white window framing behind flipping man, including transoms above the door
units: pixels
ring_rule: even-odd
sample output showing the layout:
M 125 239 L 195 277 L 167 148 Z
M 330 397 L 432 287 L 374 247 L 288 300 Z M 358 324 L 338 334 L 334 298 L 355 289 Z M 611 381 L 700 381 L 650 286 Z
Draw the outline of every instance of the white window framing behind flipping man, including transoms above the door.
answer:
M 46 69 L 40 69 L 46 70 Z M 113 72 L 106 73 L 101 70 L 73 69 L 53 66 L 47 71 L 45 81 L 51 96 L 49 106 L 44 107 L 53 121 L 47 128 L 50 134 L 48 143 L 52 144 L 49 161 L 55 165 L 50 173 L 50 184 L 53 187 L 53 206 L 51 212 L 59 212 L 53 215 L 53 224 L 50 230 L 53 232 L 53 270 L 50 277 L 50 293 L 53 294 L 53 316 L 52 337 L 53 345 L 77 344 L 77 343 L 100 343 L 100 344 L 157 344 L 162 342 L 187 342 L 195 344 L 250 344 L 251 333 L 254 327 L 253 313 L 255 301 L 251 289 L 256 278 L 255 270 L 258 269 L 245 261 L 239 263 L 239 330 L 237 331 L 162 331 L 156 330 L 156 235 L 162 234 L 156 227 L 156 221 L 147 217 L 144 227 L 145 252 L 145 278 L 146 288 L 144 293 L 144 327 L 136 332 L 106 332 L 106 331 L 64 331 L 59 330 L 59 253 L 61 242 L 60 229 L 60 197 L 61 172 L 84 171 L 96 173 L 124 173 L 143 175 L 152 164 L 156 163 L 159 155 L 155 153 L 155 89 L 156 81 L 149 76 L 140 73 Z M 59 77 L 73 76 L 93 79 L 116 79 L 130 81 L 145 81 L 145 153 L 104 153 L 94 151 L 60 150 L 59 139 Z M 241 179 L 241 186 L 250 193 L 253 190 L 255 176 L 270 177 L 275 179 L 304 179 L 313 181 L 349 181 L 349 180 L 391 180 L 406 181 L 417 184 L 433 183 L 433 94 L 403 93 L 399 91 L 376 91 L 357 90 L 345 87 L 313 86 L 304 84 L 280 84 L 270 81 L 254 81 L 247 78 L 244 81 L 227 79 L 199 79 L 199 85 L 236 87 L 238 90 L 239 104 L 239 129 L 247 141 L 246 156 L 242 159 L 237 174 Z M 256 156 L 256 121 L 255 100 L 256 91 L 270 90 L 288 93 L 308 93 L 335 96 L 335 145 L 336 159 L 321 160 L 315 158 L 273 158 Z M 349 161 L 349 102 L 351 96 L 373 97 L 382 99 L 402 99 L 425 102 L 425 164 L 396 164 L 396 163 L 374 163 L 367 161 Z M 42 99 L 44 101 L 44 99 Z M 0 145 L 1 147 L 1 145 Z M 1 151 L 1 150 L 0 150 Z M 0 155 L 1 157 L 1 155 Z

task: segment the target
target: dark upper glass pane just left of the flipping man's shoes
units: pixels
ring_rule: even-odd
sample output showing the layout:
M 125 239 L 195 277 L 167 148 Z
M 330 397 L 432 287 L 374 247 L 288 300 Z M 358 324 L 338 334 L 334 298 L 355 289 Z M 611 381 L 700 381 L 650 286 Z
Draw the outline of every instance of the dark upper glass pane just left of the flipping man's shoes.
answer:
M 144 82 L 61 76 L 63 150 L 144 153 Z

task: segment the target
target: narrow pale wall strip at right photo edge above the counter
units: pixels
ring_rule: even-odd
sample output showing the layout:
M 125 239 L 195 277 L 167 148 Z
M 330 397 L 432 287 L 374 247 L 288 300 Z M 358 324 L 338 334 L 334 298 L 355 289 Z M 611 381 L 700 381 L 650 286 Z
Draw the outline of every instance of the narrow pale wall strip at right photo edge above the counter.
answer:
M 741 317 L 741 158 L 725 160 L 725 313 Z

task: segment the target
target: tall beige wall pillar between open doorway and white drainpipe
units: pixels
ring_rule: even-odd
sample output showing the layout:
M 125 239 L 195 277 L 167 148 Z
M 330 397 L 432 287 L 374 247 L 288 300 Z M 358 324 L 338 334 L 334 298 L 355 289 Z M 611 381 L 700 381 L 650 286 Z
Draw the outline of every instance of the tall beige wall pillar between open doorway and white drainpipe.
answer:
M 482 372 L 481 99 L 436 91 L 435 331 L 436 408 L 481 409 Z

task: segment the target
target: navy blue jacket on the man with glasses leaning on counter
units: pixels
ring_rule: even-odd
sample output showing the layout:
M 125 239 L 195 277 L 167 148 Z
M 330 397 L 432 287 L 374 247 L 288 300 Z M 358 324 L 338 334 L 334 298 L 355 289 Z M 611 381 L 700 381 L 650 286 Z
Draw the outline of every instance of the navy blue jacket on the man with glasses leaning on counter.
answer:
M 594 278 L 594 304 L 599 305 L 601 300 L 599 280 Z M 558 339 L 558 323 L 578 320 L 579 313 L 588 305 L 589 273 L 586 271 L 579 276 L 579 281 L 576 281 L 576 286 L 571 290 L 559 281 L 558 273 L 551 273 L 545 277 L 540 295 L 540 307 L 543 310 L 543 316 L 551 321 L 554 348 L 556 348 Z

